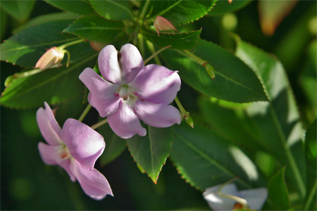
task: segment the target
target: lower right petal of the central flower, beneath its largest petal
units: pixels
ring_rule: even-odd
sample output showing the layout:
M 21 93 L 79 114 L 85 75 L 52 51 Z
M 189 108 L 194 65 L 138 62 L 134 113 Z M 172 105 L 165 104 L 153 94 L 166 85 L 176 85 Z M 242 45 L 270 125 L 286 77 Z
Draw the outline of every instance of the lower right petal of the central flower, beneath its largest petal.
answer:
M 170 127 L 181 122 L 180 112 L 174 106 L 137 100 L 134 110 L 140 120 L 153 127 Z

